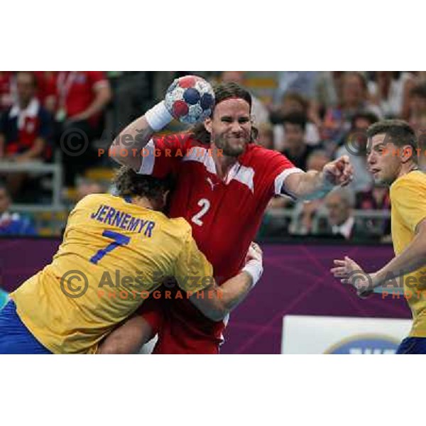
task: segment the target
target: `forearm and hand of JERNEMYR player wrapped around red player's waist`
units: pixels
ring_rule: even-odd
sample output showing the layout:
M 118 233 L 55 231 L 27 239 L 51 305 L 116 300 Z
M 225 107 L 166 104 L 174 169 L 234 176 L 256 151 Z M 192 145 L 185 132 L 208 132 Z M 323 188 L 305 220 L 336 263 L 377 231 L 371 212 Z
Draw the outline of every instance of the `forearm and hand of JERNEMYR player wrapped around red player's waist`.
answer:
M 263 273 L 261 248 L 251 243 L 246 266 L 220 287 L 215 283 L 190 296 L 190 301 L 210 320 L 221 321 L 249 294 Z

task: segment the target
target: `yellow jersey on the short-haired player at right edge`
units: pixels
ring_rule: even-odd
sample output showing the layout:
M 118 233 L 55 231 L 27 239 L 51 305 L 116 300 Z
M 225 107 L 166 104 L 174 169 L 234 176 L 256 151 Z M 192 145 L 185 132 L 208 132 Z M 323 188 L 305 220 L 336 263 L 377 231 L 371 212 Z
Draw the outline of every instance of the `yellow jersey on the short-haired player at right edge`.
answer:
M 398 256 L 413 241 L 417 225 L 426 218 L 426 174 L 420 170 L 391 185 L 393 249 Z M 426 268 L 404 276 L 404 295 L 413 313 L 410 337 L 426 337 Z

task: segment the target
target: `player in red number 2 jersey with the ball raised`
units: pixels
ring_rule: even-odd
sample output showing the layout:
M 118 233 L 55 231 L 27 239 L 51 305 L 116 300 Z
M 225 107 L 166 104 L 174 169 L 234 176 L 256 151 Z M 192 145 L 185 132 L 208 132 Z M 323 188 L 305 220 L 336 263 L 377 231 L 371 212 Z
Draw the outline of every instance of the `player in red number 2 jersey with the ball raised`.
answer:
M 155 136 L 173 118 L 195 125 L 187 133 Z M 256 145 L 255 136 L 246 89 L 224 83 L 213 93 L 200 77 L 186 76 L 175 80 L 165 101 L 127 126 L 111 147 L 119 163 L 138 173 L 174 176 L 169 215 L 190 223 L 218 284 L 244 266 L 271 197 L 311 200 L 352 177 L 346 156 L 322 172 L 305 173 L 284 155 Z M 258 271 L 252 275 L 256 281 Z M 133 353 L 158 334 L 156 354 L 217 354 L 225 327 L 226 321 L 207 319 L 185 297 L 151 300 L 111 333 L 101 352 Z

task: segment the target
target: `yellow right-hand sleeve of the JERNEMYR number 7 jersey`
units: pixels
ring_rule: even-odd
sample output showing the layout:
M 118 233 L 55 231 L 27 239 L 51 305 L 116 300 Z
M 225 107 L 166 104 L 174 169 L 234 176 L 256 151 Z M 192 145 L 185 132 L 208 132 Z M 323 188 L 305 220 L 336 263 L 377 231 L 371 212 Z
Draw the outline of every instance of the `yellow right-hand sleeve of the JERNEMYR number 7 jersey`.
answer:
M 174 275 L 182 290 L 195 293 L 214 283 L 213 267 L 198 249 L 190 226 L 187 227 Z

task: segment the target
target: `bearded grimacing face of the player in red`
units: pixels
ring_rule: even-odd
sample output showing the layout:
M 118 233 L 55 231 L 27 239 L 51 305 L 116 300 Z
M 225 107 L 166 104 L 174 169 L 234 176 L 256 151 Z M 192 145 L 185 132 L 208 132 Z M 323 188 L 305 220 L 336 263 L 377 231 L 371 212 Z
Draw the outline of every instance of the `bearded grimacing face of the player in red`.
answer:
M 229 157 L 238 157 L 251 138 L 250 106 L 244 99 L 226 99 L 214 108 L 204 123 L 212 143 Z

